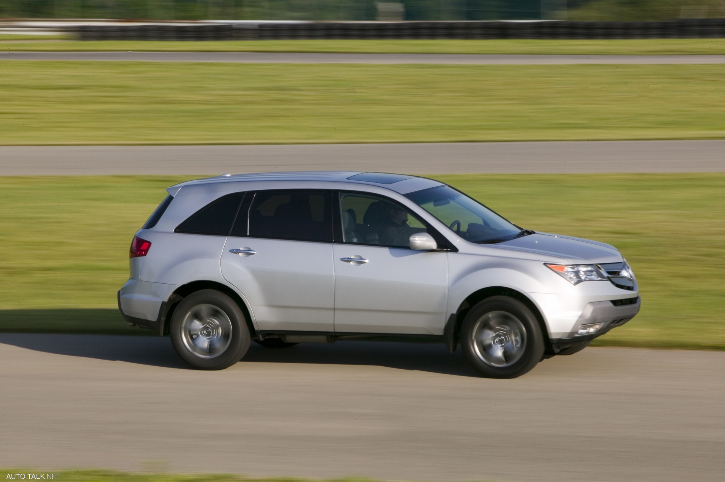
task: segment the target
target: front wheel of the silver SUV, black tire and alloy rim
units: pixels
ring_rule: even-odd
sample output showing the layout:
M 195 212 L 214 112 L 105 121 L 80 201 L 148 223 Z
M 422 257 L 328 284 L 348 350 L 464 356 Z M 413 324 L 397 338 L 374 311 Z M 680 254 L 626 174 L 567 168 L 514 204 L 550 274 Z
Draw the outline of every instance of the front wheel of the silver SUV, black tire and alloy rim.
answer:
M 508 296 L 492 296 L 465 315 L 460 344 L 466 360 L 489 378 L 515 378 L 542 360 L 544 336 L 534 313 Z

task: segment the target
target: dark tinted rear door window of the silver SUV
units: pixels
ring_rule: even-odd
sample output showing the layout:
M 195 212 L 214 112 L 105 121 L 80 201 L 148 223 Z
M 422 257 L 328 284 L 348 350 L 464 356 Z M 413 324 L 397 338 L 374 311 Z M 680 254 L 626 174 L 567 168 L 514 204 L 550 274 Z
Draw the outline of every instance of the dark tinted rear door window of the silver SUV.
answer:
M 249 209 L 249 236 L 330 242 L 331 199 L 331 191 L 259 191 Z

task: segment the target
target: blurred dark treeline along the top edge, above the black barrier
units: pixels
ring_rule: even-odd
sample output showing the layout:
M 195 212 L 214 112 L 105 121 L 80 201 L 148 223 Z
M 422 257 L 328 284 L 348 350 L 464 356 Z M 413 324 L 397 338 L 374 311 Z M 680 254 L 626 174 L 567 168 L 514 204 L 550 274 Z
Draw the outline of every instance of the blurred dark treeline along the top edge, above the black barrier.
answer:
M 724 0 L 0 0 L 4 18 L 597 20 L 725 17 Z

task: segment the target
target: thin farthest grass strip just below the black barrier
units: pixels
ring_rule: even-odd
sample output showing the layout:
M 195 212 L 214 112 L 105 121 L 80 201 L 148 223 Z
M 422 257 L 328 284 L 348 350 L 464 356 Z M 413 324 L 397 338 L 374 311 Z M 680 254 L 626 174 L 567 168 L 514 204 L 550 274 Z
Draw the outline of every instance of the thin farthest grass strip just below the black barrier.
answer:
M 0 51 L 247 51 L 389 54 L 725 54 L 724 38 L 629 40 L 265 40 L 1 43 Z

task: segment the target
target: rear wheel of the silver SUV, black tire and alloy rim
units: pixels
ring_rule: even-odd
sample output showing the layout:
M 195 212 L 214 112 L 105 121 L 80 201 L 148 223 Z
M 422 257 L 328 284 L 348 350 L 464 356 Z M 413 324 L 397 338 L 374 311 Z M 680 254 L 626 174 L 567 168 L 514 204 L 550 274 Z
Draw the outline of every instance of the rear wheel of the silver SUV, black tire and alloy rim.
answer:
M 231 367 L 244 357 L 251 341 L 239 305 L 212 289 L 181 300 L 171 317 L 170 335 L 181 360 L 198 370 Z

